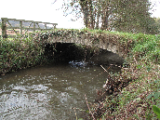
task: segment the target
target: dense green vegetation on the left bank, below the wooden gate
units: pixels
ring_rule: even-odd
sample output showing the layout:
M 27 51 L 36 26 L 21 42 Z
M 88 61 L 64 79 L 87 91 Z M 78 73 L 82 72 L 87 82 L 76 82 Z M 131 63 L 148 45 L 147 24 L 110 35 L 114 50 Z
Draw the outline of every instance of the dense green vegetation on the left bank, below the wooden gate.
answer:
M 44 48 L 28 38 L 0 40 L 0 74 L 39 65 Z

